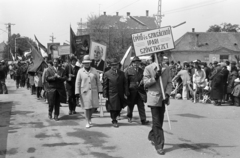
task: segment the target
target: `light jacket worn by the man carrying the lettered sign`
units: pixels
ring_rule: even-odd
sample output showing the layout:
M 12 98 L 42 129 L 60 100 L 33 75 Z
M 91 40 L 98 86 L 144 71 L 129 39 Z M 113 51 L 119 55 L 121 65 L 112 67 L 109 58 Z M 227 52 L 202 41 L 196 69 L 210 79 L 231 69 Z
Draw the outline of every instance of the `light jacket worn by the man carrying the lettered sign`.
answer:
M 155 80 L 157 72 L 157 63 L 148 65 L 143 73 L 143 82 L 147 91 L 147 103 L 148 106 L 162 106 L 163 96 L 159 79 Z M 171 71 L 168 66 L 162 67 L 162 82 L 164 93 L 170 95 L 172 91 L 172 77 Z

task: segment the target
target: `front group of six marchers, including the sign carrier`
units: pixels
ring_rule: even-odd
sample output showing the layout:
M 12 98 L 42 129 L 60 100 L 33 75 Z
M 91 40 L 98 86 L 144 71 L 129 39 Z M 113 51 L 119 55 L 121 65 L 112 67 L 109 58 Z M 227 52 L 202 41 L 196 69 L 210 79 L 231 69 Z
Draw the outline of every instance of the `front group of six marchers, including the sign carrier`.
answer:
M 157 55 L 159 62 L 163 60 L 163 53 Z M 120 70 L 120 63 L 116 58 L 111 59 L 103 76 L 91 66 L 92 60 L 85 55 L 82 67 L 76 66 L 77 59 L 70 58 L 70 63 L 62 68 L 59 59 L 48 61 L 48 67 L 43 70 L 42 82 L 47 93 L 49 104 L 48 117 L 59 120 L 60 103 L 66 102 L 68 94 L 69 115 L 76 114 L 76 101 L 79 100 L 85 111 L 86 128 L 93 126 L 92 113 L 99 107 L 99 94 L 107 100 L 107 109 L 110 112 L 113 127 L 118 127 L 117 117 L 121 110 L 128 106 L 128 122 L 132 122 L 135 104 L 138 107 L 141 123 L 149 124 L 146 119 L 145 104 L 152 113 L 152 130 L 148 139 L 155 146 L 159 154 L 164 154 L 163 120 L 165 103 L 168 103 L 172 90 L 171 73 L 169 67 L 154 62 L 144 70 L 139 67 L 141 60 L 134 57 L 132 65 L 126 70 Z M 157 60 L 157 59 L 156 59 Z M 166 99 L 163 99 L 159 78 L 162 76 L 163 89 Z M 54 113 L 54 115 L 53 115 Z

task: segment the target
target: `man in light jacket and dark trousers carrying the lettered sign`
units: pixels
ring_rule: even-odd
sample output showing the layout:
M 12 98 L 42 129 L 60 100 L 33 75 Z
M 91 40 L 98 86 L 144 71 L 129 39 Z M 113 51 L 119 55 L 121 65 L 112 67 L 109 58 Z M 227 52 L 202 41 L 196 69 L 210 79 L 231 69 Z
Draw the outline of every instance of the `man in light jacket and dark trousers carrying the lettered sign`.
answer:
M 143 73 L 143 81 L 147 91 L 147 103 L 151 108 L 152 113 L 152 130 L 149 132 L 148 139 L 155 146 L 157 153 L 164 155 L 164 132 L 162 129 L 165 104 L 169 103 L 169 95 L 172 91 L 172 78 L 170 68 L 166 65 L 162 67 L 157 63 L 162 63 L 163 52 L 157 53 L 157 58 L 155 59 L 154 54 L 152 55 L 153 63 L 148 65 Z M 158 60 L 158 62 L 157 62 Z M 159 66 L 159 70 L 158 70 Z M 163 89 L 161 90 L 161 85 L 159 82 L 160 77 L 162 77 Z M 165 93 L 165 100 L 163 100 L 163 93 Z

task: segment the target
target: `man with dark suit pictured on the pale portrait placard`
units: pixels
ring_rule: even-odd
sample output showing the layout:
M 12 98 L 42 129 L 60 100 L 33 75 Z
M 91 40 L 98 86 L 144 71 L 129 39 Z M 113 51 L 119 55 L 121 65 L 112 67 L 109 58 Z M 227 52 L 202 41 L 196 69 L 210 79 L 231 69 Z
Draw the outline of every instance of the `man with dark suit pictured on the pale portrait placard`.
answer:
M 104 71 L 105 61 L 102 59 L 103 48 L 96 46 L 94 48 L 94 60 L 92 60 L 91 67 L 94 67 L 98 71 Z

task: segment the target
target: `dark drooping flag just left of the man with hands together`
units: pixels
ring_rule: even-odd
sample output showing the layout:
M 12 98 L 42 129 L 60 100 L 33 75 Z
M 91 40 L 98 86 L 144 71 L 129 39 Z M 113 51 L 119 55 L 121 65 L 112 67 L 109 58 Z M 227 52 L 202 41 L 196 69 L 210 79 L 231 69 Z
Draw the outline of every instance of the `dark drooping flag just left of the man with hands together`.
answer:
M 29 72 L 36 72 L 37 69 L 39 68 L 39 66 L 42 64 L 43 62 L 43 57 L 42 55 L 35 49 L 35 47 L 33 45 L 31 45 L 29 43 L 29 45 L 31 46 L 31 55 L 33 57 L 33 66 L 30 68 Z

